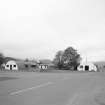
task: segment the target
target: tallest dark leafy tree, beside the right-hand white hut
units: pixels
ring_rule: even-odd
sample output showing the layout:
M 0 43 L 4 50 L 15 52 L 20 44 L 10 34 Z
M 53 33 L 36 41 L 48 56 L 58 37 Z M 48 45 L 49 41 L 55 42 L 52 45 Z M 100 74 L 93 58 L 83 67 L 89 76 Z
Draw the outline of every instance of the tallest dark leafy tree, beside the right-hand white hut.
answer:
M 80 54 L 73 47 L 68 47 L 62 55 L 63 67 L 65 69 L 75 69 L 80 61 Z

